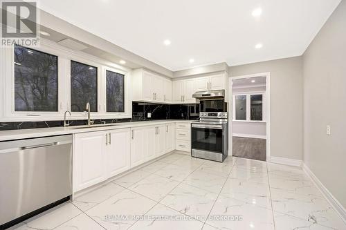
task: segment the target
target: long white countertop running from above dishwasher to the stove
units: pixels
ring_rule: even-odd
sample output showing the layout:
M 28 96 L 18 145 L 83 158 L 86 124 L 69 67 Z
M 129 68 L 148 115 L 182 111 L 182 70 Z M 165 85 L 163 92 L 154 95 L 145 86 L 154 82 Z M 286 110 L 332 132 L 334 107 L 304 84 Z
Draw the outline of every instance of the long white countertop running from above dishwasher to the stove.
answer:
M 16 129 L 10 131 L 0 131 L 0 142 L 9 140 L 19 140 L 34 137 L 48 137 L 54 135 L 65 135 L 73 133 L 87 133 L 94 131 L 107 131 L 118 128 L 134 128 L 140 126 L 153 126 L 159 124 L 175 123 L 175 122 L 187 122 L 191 123 L 191 120 L 181 119 L 160 119 L 154 121 L 143 121 L 143 122 L 119 122 L 113 123 L 112 126 L 94 126 L 90 128 L 73 128 L 78 126 L 69 127 L 55 127 L 55 128 L 28 128 L 28 129 Z M 107 124 L 109 125 L 109 124 Z

